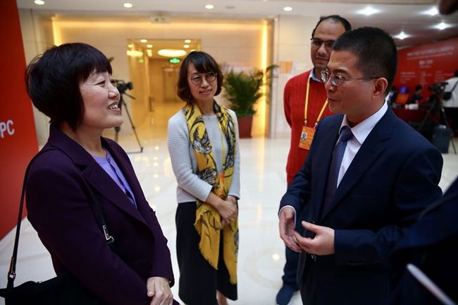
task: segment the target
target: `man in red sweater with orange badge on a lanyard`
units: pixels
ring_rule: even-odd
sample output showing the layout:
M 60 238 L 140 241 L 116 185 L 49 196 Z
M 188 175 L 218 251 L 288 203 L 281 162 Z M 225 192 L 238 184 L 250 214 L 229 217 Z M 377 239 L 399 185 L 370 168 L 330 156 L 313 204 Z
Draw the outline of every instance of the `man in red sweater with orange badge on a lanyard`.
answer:
M 350 23 L 338 15 L 321 18 L 311 32 L 310 55 L 314 68 L 291 78 L 285 85 L 283 106 L 286 120 L 291 127 L 290 152 L 286 164 L 288 185 L 304 165 L 316 124 L 324 116 L 332 114 L 328 109 L 321 70 L 328 65 L 334 41 L 351 28 Z M 299 253 L 287 247 L 285 249 L 285 274 L 282 277 L 283 286 L 276 297 L 278 305 L 287 305 L 292 294 L 299 290 L 296 280 Z

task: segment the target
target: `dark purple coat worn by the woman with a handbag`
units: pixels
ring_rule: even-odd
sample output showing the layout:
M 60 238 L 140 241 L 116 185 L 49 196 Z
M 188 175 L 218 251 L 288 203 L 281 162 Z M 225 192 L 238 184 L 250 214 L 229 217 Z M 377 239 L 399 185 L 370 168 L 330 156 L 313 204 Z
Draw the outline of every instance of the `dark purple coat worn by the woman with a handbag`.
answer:
M 108 304 L 149 304 L 147 278 L 174 283 L 171 254 L 154 210 L 149 207 L 128 155 L 101 138 L 132 188 L 137 209 L 82 146 L 51 125 L 47 148 L 30 167 L 28 217 L 51 253 L 57 274 L 70 271 Z M 114 237 L 104 239 L 89 206 L 89 185 Z

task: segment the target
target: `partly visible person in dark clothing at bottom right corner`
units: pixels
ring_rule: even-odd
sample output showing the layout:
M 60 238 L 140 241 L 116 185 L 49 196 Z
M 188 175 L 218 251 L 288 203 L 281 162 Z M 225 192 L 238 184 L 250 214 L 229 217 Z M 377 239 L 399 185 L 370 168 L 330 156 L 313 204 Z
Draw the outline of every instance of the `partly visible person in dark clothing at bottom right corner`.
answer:
M 457 304 L 457 223 L 458 179 L 455 179 L 442 199 L 421 213 L 419 221 L 393 251 L 397 287 L 390 304 Z M 433 285 L 422 282 L 419 272 L 411 265 L 419 268 Z

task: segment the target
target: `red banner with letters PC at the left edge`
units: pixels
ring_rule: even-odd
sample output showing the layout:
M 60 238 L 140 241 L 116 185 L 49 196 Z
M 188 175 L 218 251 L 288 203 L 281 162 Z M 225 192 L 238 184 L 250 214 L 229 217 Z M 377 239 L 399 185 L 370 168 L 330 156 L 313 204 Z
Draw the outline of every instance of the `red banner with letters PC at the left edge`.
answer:
M 32 103 L 24 83 L 25 55 L 16 0 L 0 1 L 4 41 L 0 56 L 0 238 L 18 220 L 23 175 L 38 150 Z

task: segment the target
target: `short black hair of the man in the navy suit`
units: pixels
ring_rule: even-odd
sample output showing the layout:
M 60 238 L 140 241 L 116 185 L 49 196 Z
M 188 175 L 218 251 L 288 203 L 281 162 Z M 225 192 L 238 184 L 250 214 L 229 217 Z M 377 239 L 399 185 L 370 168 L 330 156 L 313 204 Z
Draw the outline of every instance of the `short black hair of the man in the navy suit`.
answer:
M 335 40 L 333 52 L 347 51 L 358 59 L 356 67 L 363 77 L 384 77 L 388 80 L 385 95 L 390 92 L 397 69 L 395 40 L 380 28 L 362 27 L 349 30 Z

